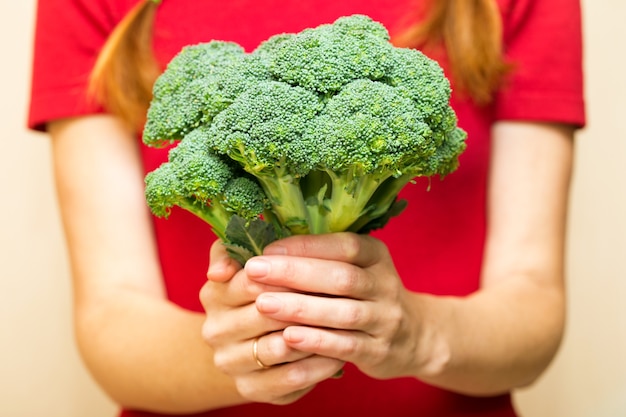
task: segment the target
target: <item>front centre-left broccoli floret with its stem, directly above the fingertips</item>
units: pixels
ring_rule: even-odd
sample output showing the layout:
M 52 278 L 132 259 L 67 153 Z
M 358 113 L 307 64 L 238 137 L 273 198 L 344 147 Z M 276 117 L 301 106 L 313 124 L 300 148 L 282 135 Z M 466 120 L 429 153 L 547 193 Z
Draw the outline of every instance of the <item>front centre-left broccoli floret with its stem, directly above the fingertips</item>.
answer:
M 294 232 L 307 226 L 299 180 L 317 162 L 316 147 L 302 136 L 320 109 L 315 93 L 264 81 L 216 116 L 208 131 L 212 148 L 257 178 L 278 219 Z

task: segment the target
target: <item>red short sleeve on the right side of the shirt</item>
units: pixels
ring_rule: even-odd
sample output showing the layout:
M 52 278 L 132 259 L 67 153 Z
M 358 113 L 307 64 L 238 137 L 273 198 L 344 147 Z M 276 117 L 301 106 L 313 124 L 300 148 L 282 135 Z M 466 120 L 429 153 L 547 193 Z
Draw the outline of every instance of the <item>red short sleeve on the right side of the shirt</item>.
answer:
M 579 0 L 504 3 L 504 47 L 513 68 L 496 98 L 496 120 L 584 126 Z

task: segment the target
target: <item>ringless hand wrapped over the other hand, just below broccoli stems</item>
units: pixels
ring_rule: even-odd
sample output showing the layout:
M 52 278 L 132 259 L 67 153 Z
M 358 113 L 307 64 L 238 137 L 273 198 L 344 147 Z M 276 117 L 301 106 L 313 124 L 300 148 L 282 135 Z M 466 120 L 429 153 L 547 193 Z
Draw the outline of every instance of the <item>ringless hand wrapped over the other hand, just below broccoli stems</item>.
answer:
M 247 276 L 262 292 L 256 306 L 267 319 L 291 323 L 288 347 L 352 362 L 374 378 L 414 374 L 419 316 L 380 241 L 352 233 L 294 236 L 251 259 Z

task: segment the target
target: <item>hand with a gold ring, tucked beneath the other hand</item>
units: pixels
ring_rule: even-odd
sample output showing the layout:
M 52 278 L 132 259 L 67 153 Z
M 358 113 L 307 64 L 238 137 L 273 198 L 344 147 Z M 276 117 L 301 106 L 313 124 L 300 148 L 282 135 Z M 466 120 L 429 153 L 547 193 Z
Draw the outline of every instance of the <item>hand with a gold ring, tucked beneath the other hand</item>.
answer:
M 234 379 L 245 399 L 287 404 L 341 369 L 340 360 L 288 346 L 282 331 L 289 323 L 257 311 L 255 300 L 260 294 L 286 288 L 248 279 L 220 243 L 211 248 L 210 265 L 209 280 L 200 293 L 207 315 L 203 337 L 213 348 L 215 365 Z

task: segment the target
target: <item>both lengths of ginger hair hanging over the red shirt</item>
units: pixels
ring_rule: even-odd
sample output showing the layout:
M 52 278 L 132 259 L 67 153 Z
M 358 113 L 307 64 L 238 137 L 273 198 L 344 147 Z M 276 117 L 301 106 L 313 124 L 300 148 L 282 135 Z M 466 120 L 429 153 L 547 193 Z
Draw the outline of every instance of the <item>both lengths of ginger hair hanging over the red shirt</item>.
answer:
M 94 66 L 90 92 L 109 112 L 139 128 L 160 68 L 152 51 L 159 1 L 142 0 L 118 24 Z M 430 0 L 419 23 L 394 36 L 396 46 L 443 48 L 455 89 L 488 104 L 509 70 L 502 53 L 502 22 L 495 0 Z

